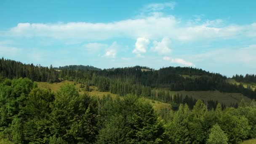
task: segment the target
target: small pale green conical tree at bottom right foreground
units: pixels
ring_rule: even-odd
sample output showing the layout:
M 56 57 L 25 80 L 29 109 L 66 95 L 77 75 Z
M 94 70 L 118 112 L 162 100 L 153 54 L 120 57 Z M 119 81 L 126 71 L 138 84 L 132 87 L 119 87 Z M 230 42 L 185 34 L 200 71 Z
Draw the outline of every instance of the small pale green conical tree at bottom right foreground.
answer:
M 226 133 L 221 130 L 221 127 L 216 124 L 210 130 L 210 135 L 207 140 L 207 144 L 228 144 L 228 138 Z

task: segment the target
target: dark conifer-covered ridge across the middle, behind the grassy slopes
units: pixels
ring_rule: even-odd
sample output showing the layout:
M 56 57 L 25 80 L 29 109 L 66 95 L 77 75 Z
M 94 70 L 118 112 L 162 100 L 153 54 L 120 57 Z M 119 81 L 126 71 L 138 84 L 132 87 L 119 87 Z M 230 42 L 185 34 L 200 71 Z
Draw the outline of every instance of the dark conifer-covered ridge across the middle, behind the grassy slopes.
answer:
M 7 78 L 28 77 L 33 81 L 59 82 L 61 80 L 77 81 L 85 85 L 96 85 L 99 91 L 111 91 L 121 96 L 134 93 L 150 93 L 152 88 L 168 88 L 170 91 L 213 91 L 242 93 L 256 99 L 256 92 L 241 85 L 226 82 L 227 77 L 218 73 L 206 72 L 192 67 L 164 67 L 159 70 L 148 67 L 125 67 L 115 69 L 79 69 L 83 66 L 67 66 L 60 71 L 51 66 L 41 67 L 33 64 L 0 59 L 0 75 Z M 83 67 L 85 68 L 85 67 Z M 78 69 L 78 70 L 77 70 Z M 193 79 L 182 75 L 196 75 Z M 145 90 L 143 90 L 145 89 Z

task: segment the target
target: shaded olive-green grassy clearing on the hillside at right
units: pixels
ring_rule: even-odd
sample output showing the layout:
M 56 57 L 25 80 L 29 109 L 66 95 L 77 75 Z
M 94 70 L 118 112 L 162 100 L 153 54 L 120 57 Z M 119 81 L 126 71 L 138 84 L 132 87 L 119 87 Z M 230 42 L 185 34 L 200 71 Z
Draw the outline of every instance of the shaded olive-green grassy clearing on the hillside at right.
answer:
M 156 90 L 161 90 L 157 88 Z M 241 99 L 245 99 L 245 101 L 251 101 L 248 97 L 243 96 L 240 93 L 221 93 L 219 91 L 170 91 L 171 95 L 178 95 L 184 98 L 187 96 L 192 96 L 193 99 L 202 99 L 204 101 L 213 100 L 219 101 L 220 103 L 230 105 L 234 103 L 238 103 Z

